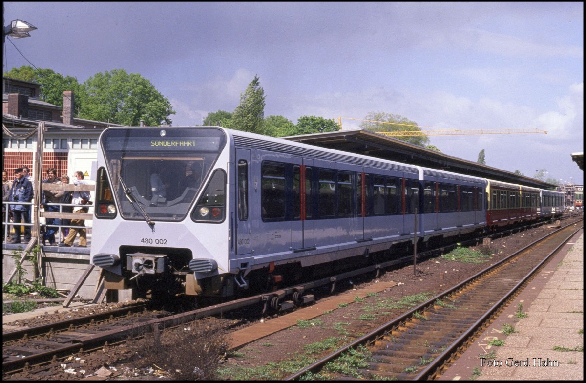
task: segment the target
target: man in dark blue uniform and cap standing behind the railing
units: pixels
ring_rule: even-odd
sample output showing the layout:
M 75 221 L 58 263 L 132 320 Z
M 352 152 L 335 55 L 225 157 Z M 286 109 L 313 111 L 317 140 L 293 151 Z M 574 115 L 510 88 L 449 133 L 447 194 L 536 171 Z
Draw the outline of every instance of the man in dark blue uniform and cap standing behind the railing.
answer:
M 33 199 L 33 184 L 25 177 L 22 168 L 14 170 L 15 179 L 10 189 L 10 202 L 16 202 L 10 205 L 12 215 L 14 216 L 14 238 L 10 243 L 21 243 L 21 225 L 18 223 L 30 223 L 30 205 L 19 205 L 18 202 L 30 202 Z M 25 242 L 30 240 L 30 226 L 25 226 Z

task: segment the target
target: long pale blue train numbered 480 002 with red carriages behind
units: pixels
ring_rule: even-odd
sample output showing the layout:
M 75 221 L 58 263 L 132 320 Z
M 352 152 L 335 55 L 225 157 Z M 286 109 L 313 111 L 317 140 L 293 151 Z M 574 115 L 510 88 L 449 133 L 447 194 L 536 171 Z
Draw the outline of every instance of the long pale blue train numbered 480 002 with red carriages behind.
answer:
M 90 262 L 133 297 L 229 299 L 562 213 L 560 192 L 282 138 L 111 127 Z

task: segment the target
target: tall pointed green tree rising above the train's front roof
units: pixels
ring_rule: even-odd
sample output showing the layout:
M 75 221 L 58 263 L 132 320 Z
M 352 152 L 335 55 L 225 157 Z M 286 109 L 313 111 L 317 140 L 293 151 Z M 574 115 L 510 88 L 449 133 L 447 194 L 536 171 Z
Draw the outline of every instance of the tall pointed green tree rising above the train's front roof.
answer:
M 260 87 L 258 76 L 254 76 L 246 91 L 240 95 L 240 104 L 234 109 L 227 127 L 263 134 L 264 106 L 264 90 Z

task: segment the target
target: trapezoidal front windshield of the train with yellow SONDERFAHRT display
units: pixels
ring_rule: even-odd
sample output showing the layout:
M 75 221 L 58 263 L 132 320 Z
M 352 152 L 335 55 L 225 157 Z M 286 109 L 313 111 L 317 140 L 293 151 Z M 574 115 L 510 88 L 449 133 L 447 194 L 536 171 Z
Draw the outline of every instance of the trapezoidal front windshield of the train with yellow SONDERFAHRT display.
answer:
M 226 135 L 217 128 L 114 128 L 100 143 L 123 218 L 181 221 Z

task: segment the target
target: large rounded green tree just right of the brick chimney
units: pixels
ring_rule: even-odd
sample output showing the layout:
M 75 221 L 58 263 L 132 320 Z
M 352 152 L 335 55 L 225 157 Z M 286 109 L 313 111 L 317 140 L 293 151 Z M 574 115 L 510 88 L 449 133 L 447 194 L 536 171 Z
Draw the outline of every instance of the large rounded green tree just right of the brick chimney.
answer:
M 171 124 L 176 112 L 151 82 L 124 69 L 97 73 L 83 84 L 80 117 L 125 126 Z

